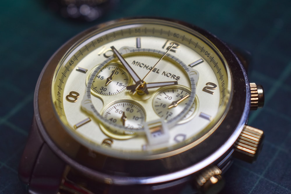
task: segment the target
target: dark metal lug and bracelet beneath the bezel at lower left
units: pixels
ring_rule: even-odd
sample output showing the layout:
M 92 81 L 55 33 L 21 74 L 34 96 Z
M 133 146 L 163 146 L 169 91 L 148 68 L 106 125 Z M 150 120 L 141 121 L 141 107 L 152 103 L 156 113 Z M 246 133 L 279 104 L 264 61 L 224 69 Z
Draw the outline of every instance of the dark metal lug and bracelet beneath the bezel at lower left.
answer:
M 33 150 L 33 151 L 32 151 Z M 179 193 L 186 179 L 162 185 L 113 186 L 99 183 L 69 167 L 42 138 L 35 116 L 19 165 L 19 178 L 31 194 L 98 194 L 98 193 Z M 72 180 L 76 182 L 73 182 Z M 88 185 L 84 185 L 87 183 Z M 92 189 L 89 191 L 87 188 Z

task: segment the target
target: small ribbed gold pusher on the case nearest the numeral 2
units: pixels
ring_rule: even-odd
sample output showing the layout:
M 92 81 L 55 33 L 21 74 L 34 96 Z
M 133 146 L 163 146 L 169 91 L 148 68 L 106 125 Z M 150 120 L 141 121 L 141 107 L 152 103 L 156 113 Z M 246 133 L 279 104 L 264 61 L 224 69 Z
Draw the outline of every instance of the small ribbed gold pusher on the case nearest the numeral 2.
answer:
M 250 83 L 251 87 L 251 110 L 257 110 L 264 106 L 264 88 L 262 85 Z

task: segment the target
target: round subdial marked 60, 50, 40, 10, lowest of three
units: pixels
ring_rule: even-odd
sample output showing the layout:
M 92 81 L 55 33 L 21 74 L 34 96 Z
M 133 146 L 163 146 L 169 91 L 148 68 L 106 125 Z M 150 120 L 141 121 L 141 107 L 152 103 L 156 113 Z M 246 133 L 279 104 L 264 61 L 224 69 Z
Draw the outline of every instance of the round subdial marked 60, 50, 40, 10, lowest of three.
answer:
M 121 100 L 107 107 L 103 117 L 126 128 L 140 129 L 145 122 L 145 111 L 141 105 L 131 100 Z

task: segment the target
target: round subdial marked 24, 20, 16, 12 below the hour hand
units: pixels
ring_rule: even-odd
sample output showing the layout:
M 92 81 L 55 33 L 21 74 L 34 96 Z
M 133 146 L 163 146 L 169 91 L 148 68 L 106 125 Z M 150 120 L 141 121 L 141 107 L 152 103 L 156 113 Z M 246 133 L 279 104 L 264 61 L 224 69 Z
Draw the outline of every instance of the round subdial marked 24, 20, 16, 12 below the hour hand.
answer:
M 182 87 L 164 88 L 155 95 L 152 101 L 153 109 L 161 118 L 170 120 L 183 111 L 189 101 L 190 94 L 188 89 Z M 186 118 L 184 117 L 184 119 Z

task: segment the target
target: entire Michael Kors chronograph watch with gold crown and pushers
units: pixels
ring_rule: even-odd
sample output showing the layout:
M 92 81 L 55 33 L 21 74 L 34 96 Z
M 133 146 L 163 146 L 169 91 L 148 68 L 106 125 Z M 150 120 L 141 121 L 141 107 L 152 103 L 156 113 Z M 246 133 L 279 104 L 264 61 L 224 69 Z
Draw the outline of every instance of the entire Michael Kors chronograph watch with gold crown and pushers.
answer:
M 245 52 L 173 19 L 119 19 L 75 36 L 38 79 L 19 166 L 29 193 L 218 192 L 255 161 L 264 104 Z

